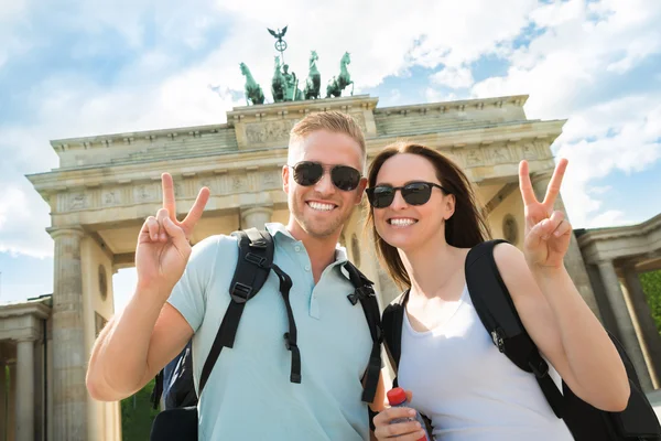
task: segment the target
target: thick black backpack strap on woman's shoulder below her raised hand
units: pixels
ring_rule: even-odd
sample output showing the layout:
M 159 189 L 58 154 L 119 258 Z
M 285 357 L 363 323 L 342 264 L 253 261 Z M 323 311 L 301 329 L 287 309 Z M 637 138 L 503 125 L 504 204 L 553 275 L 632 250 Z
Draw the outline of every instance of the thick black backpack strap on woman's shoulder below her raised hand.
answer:
M 519 368 L 534 374 L 546 401 L 557 418 L 563 415 L 563 397 L 523 327 L 509 291 L 494 259 L 494 248 L 506 240 L 488 240 L 475 246 L 466 258 L 466 284 L 477 315 L 494 344 Z

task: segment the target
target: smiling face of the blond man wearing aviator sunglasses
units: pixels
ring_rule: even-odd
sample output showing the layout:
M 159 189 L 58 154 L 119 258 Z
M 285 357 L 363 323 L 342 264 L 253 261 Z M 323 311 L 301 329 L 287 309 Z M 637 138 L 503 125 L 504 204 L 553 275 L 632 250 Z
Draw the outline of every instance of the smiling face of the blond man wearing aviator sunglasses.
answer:
M 289 166 L 282 169 L 283 189 L 288 194 L 291 216 L 290 227 L 296 233 L 324 238 L 339 234 L 351 215 L 353 208 L 360 203 L 367 180 L 360 179 L 355 190 L 343 191 L 335 186 L 330 178 L 334 165 L 347 165 L 362 172 L 360 146 L 345 133 L 326 130 L 315 131 L 297 141 L 290 149 Z M 310 186 L 294 181 L 292 166 L 301 161 L 318 162 L 324 165 L 322 179 Z

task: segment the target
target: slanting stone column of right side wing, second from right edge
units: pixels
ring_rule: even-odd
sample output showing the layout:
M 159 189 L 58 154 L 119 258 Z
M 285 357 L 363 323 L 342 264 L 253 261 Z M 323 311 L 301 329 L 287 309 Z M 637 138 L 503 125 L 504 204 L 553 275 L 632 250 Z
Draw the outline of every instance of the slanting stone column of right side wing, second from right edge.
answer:
M 604 282 L 604 291 L 606 292 L 608 303 L 610 303 L 610 309 L 615 315 L 621 343 L 625 346 L 625 349 L 627 349 L 627 354 L 629 354 L 631 363 L 633 363 L 633 367 L 638 373 L 640 385 L 642 386 L 643 391 L 653 390 L 652 379 L 647 368 L 642 348 L 640 347 L 638 335 L 636 335 L 636 327 L 633 327 L 633 321 L 629 314 L 625 294 L 620 289 L 619 279 L 615 272 L 613 261 L 600 261 L 598 262 L 598 267 L 599 275 L 602 276 L 602 280 Z

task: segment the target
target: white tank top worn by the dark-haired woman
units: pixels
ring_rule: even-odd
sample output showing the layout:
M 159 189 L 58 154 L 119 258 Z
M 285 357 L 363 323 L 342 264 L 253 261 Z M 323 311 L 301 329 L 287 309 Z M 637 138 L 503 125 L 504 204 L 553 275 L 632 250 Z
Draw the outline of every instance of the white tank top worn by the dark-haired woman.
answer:
M 454 312 L 427 332 L 414 331 L 404 313 L 398 375 L 399 385 L 413 392 L 411 406 L 431 418 L 436 440 L 573 440 L 534 376 L 494 345 L 468 289 L 447 306 Z

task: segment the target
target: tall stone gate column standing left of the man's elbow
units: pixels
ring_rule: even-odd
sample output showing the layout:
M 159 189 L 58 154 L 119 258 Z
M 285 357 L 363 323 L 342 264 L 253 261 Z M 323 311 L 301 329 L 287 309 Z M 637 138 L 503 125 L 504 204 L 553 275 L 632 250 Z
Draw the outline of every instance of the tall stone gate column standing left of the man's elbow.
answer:
M 83 320 L 82 228 L 53 228 L 53 440 L 87 439 L 87 388 Z

